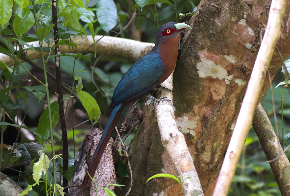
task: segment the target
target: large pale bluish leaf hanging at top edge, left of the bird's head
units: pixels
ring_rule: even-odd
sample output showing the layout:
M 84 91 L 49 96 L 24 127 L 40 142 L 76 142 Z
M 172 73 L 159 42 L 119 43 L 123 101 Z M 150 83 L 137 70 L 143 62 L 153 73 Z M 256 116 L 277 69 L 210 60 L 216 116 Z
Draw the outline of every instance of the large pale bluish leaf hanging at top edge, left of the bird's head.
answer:
M 113 0 L 99 0 L 97 2 L 97 18 L 105 32 L 109 32 L 117 25 L 117 8 Z

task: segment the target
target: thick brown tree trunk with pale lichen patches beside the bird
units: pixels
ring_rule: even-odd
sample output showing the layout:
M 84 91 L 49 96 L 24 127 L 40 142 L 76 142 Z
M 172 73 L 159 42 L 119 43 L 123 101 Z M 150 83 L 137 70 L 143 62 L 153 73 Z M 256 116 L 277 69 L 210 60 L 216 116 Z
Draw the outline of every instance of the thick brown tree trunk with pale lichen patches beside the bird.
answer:
M 193 29 L 184 36 L 174 73 L 173 105 L 177 126 L 184 133 L 205 195 L 213 192 L 267 23 L 270 2 L 203 0 L 189 22 Z M 287 33 L 284 29 L 281 32 Z M 281 51 L 281 40 L 277 47 Z M 284 41 L 283 51 L 285 56 L 289 54 L 288 41 Z M 269 68 L 271 79 L 281 65 L 276 51 Z M 267 78 L 260 100 L 268 86 Z M 182 194 L 181 186 L 173 179 L 155 178 L 145 184 L 157 173 L 176 175 L 150 108 L 130 145 L 129 158 L 133 170 L 130 195 Z

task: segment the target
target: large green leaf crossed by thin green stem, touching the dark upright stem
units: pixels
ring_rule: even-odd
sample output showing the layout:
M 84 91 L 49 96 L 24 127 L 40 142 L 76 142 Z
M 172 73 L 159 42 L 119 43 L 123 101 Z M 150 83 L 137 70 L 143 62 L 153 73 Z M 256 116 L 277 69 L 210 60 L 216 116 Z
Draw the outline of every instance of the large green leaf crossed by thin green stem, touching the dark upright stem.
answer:
M 54 101 L 50 104 L 51 108 L 51 118 L 52 118 L 52 129 L 55 128 L 57 125 L 57 120 L 59 117 L 59 110 L 58 110 L 58 103 L 57 101 Z M 50 136 L 50 128 L 49 128 L 49 117 L 48 117 L 48 107 L 45 108 L 44 112 L 41 114 L 39 121 L 38 121 L 38 127 L 36 129 L 36 132 L 39 133 L 42 138 L 37 138 L 37 140 L 42 144 L 43 141 L 48 139 Z M 40 140 L 39 140 L 40 139 Z

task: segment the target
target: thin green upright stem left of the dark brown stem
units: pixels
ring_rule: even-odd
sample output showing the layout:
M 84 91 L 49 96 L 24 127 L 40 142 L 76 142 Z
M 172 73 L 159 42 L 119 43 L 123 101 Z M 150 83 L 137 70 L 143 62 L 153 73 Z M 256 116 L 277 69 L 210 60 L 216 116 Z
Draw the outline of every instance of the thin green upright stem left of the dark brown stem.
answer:
M 32 7 L 33 7 L 33 14 L 34 14 L 34 19 L 35 19 L 35 27 L 38 28 L 34 0 L 32 0 Z M 43 48 L 42 48 L 42 40 L 38 40 L 38 41 L 39 41 L 41 60 L 42 60 L 43 70 L 44 70 L 44 81 L 45 81 L 45 85 L 44 86 L 45 86 L 46 97 L 47 97 L 49 130 L 50 130 L 50 140 L 51 140 L 51 151 L 52 151 L 52 157 L 55 157 L 55 149 L 54 149 L 54 141 L 53 141 L 53 130 L 52 130 L 52 118 L 51 118 L 51 108 L 50 108 L 50 98 L 49 98 L 48 82 L 47 82 L 47 75 L 46 75 L 46 64 L 45 64 L 45 60 L 44 60 L 44 53 L 43 53 Z M 54 179 L 54 183 L 57 184 L 55 159 L 53 159 L 52 163 L 53 163 L 53 179 Z M 53 193 L 53 195 L 54 195 L 54 193 Z

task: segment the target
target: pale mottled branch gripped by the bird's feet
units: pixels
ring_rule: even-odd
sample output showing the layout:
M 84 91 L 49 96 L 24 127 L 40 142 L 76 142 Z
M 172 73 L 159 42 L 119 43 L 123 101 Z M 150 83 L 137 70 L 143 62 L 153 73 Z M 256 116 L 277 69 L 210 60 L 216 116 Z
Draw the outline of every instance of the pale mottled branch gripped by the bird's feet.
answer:
M 160 97 L 167 97 L 173 100 L 173 74 L 161 86 L 166 90 L 161 90 Z M 184 135 L 177 128 L 174 110 L 172 103 L 168 101 L 156 104 L 156 118 L 162 146 L 172 160 L 177 175 L 181 176 L 184 195 L 204 195 Z

